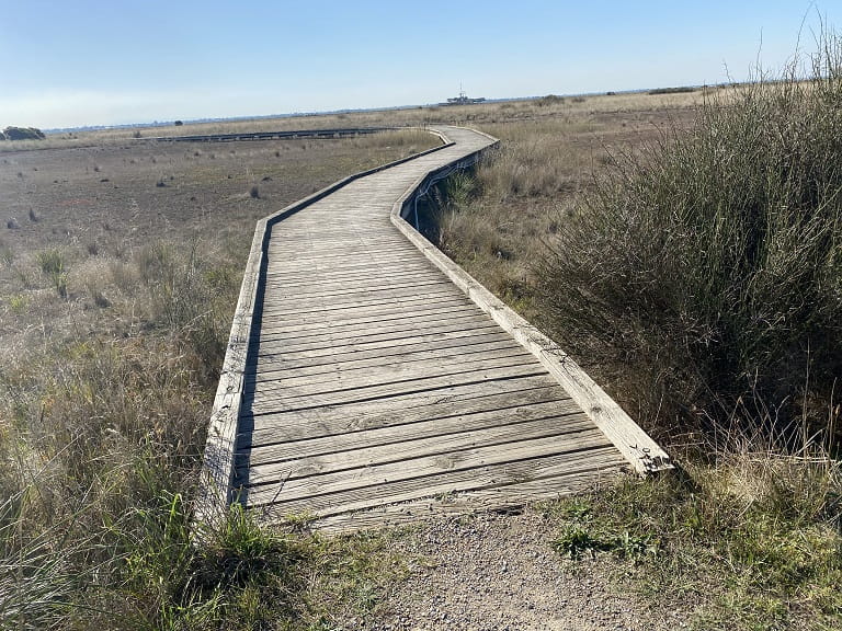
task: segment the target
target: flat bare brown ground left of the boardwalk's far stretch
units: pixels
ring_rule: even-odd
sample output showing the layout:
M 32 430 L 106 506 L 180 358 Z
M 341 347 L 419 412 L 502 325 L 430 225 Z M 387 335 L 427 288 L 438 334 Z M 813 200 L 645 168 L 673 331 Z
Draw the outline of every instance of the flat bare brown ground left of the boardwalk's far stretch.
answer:
M 0 238 L 23 253 L 98 241 L 133 246 L 227 223 L 252 225 L 278 205 L 396 157 L 389 149 L 360 153 L 354 140 L 292 139 L 138 140 L 0 153 Z M 258 198 L 250 195 L 252 186 Z

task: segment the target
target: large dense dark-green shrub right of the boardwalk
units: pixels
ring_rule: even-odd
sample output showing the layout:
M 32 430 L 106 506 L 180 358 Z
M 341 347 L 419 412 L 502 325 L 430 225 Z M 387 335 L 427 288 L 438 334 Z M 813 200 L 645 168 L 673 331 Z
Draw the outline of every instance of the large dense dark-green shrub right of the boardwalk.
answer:
M 809 81 L 793 66 L 714 93 L 690 134 L 618 157 L 538 265 L 554 334 L 669 425 L 786 434 L 838 415 L 839 41 L 812 62 Z

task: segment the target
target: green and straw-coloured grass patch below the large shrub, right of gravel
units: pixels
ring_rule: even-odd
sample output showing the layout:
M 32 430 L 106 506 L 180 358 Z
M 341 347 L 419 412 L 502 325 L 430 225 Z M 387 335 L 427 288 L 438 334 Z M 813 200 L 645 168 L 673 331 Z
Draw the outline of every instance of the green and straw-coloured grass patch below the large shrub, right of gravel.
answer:
M 547 510 L 559 553 L 626 560 L 622 581 L 692 629 L 818 630 L 842 620 L 841 498 L 827 457 L 743 454 Z

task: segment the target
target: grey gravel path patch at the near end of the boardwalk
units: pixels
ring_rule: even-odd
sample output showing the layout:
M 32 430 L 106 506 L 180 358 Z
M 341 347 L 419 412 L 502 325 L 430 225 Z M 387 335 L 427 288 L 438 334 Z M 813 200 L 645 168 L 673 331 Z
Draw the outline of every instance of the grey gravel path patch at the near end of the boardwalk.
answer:
M 397 542 L 408 580 L 366 629 L 665 631 L 683 627 L 612 587 L 611 559 L 572 562 L 551 548 L 537 512 L 421 526 Z

